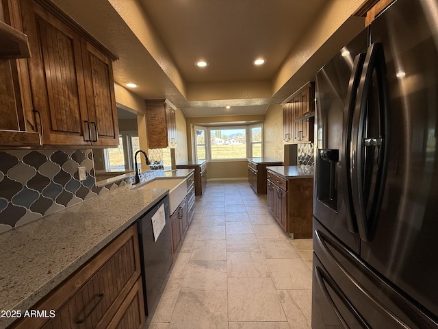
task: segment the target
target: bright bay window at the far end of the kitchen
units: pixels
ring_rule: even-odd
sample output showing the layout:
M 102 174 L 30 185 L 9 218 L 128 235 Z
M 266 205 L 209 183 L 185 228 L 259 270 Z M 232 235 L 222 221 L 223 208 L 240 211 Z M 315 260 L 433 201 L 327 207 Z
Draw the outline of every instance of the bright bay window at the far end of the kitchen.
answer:
M 260 158 L 263 125 L 194 127 L 196 160 Z

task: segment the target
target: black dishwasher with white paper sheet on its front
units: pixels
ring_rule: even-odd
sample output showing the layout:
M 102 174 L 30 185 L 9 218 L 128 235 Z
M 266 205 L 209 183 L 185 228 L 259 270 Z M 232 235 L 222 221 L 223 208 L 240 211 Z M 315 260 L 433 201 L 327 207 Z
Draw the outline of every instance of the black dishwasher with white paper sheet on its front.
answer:
M 159 227 L 156 219 L 163 216 L 166 224 L 158 234 Z M 155 302 L 159 299 L 160 291 L 172 266 L 169 218 L 169 197 L 166 195 L 137 220 L 146 315 L 151 313 Z M 155 228 L 155 234 L 158 236 L 157 239 L 155 239 L 153 228 Z

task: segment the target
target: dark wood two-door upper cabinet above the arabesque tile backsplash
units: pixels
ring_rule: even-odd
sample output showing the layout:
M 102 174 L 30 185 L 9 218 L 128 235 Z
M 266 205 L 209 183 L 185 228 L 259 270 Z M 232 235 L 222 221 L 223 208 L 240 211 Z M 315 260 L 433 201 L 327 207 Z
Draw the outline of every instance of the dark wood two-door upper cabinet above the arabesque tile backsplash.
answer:
M 40 132 L 42 145 L 118 145 L 116 56 L 50 1 L 3 3 L 13 8 L 12 23 L 29 40 L 31 57 L 18 62 L 13 80 L 15 89 L 27 91 L 24 125 Z

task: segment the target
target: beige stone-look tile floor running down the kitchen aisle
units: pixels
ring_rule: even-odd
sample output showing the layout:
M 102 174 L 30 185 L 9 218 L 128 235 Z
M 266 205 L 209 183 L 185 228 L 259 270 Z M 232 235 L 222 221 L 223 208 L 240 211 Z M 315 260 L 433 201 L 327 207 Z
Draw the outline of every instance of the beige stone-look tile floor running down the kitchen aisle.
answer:
M 311 254 L 247 181 L 209 182 L 147 326 L 311 328 Z

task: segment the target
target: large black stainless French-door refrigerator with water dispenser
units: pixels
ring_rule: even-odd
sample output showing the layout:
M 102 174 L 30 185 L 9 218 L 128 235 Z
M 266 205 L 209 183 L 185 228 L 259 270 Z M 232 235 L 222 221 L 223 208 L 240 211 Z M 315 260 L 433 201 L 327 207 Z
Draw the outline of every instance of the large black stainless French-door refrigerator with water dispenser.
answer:
M 315 96 L 313 329 L 438 328 L 438 1 L 392 3 Z

